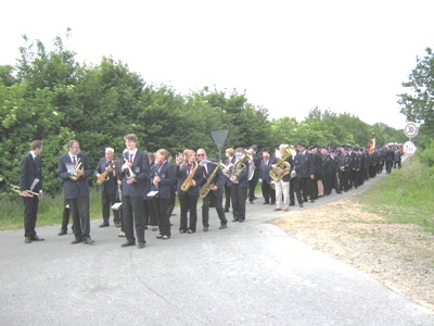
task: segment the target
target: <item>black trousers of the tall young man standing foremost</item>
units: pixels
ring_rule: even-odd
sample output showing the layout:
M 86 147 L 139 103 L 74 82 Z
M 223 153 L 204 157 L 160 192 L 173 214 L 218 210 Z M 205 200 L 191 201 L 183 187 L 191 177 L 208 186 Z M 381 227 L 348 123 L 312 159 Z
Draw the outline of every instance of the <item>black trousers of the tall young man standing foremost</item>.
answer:
M 123 227 L 125 237 L 128 242 L 136 242 L 135 227 L 137 240 L 144 243 L 144 209 L 143 198 L 123 196 Z

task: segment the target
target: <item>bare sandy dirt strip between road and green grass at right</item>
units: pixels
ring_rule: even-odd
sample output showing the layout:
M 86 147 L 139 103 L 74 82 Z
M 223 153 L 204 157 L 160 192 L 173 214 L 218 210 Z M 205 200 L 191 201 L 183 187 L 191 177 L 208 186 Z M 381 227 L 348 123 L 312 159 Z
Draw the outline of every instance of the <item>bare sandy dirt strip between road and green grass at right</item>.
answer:
M 352 264 L 434 311 L 434 235 L 417 226 L 383 224 L 355 198 L 273 221 L 316 250 Z

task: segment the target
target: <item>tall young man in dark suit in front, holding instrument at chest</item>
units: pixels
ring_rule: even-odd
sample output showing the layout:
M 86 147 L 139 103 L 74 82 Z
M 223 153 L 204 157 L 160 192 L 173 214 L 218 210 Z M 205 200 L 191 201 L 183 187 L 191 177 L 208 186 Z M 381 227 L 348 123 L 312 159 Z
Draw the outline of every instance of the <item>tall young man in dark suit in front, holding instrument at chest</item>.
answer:
M 123 166 L 119 173 L 123 191 L 123 227 L 126 242 L 122 247 L 136 244 L 136 236 L 139 248 L 144 248 L 144 205 L 143 198 L 146 191 L 146 181 L 150 177 L 150 164 L 148 154 L 137 148 L 137 136 L 129 134 L 124 136 L 126 150 L 122 155 Z

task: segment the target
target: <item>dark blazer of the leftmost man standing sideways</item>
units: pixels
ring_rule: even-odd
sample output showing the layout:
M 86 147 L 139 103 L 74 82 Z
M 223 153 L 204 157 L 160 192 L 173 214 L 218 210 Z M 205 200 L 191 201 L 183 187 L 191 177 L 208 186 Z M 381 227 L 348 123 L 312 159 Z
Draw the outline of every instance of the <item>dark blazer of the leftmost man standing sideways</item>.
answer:
M 30 190 L 31 184 L 36 178 L 39 179 L 39 183 L 31 190 L 34 192 L 39 192 L 42 189 L 42 162 L 39 156 L 34 156 L 31 153 L 28 153 L 21 161 L 20 167 L 20 190 Z

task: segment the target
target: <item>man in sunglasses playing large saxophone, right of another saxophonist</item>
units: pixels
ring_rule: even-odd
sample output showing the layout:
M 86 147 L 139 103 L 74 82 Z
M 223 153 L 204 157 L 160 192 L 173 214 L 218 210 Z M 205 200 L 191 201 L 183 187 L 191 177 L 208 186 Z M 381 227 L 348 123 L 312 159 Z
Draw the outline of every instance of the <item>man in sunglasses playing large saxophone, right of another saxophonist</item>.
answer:
M 197 160 L 202 166 L 201 172 L 203 175 L 201 197 L 203 198 L 202 203 L 202 225 L 203 230 L 208 231 L 209 229 L 209 202 L 214 199 L 214 204 L 217 211 L 218 218 L 220 220 L 220 229 L 227 228 L 228 220 L 225 216 L 225 209 L 222 206 L 222 195 L 224 195 L 224 174 L 217 163 L 210 162 L 206 158 L 204 149 L 199 149 L 196 152 Z

